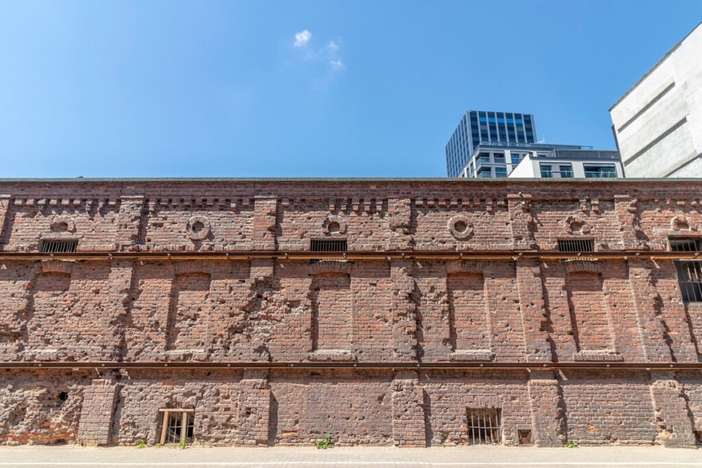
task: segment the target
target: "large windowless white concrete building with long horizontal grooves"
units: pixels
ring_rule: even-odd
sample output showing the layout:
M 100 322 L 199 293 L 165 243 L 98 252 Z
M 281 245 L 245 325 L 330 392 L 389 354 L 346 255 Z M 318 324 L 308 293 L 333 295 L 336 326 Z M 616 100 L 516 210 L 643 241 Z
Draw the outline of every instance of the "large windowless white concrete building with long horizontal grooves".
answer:
M 609 112 L 627 177 L 702 177 L 702 23 Z

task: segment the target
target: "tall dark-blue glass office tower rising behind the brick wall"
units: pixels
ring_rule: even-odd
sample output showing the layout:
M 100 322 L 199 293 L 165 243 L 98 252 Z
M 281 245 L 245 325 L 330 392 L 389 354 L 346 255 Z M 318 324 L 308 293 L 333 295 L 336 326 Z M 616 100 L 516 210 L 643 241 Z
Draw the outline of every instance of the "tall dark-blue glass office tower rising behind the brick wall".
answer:
M 446 172 L 449 177 L 458 177 L 481 143 L 535 142 L 533 114 L 470 110 L 465 113 L 446 145 Z

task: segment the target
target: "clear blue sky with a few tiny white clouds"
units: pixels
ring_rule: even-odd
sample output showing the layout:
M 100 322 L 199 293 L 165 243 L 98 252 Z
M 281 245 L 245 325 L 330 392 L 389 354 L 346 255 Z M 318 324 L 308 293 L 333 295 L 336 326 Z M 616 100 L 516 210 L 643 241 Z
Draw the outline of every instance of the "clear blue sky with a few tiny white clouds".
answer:
M 702 1 L 1 1 L 0 177 L 443 177 L 468 109 L 613 149 Z

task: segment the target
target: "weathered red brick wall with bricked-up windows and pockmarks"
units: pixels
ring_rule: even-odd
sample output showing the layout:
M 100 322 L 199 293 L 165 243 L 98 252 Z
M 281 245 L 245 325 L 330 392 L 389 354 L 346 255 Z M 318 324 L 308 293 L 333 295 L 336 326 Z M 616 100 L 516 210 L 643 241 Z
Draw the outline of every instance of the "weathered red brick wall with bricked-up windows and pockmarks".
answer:
M 693 446 L 702 305 L 661 253 L 701 189 L 0 180 L 0 443 L 158 443 L 187 408 L 198 443 L 459 444 L 487 409 L 511 445 Z

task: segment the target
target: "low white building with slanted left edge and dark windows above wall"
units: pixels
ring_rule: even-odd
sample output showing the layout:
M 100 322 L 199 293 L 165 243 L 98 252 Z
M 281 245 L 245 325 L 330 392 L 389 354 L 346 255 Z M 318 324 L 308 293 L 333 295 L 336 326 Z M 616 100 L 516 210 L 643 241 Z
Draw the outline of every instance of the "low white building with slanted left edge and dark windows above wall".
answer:
M 595 149 L 554 149 L 545 154 L 530 151 L 508 178 L 623 178 L 621 159 L 616 151 Z

